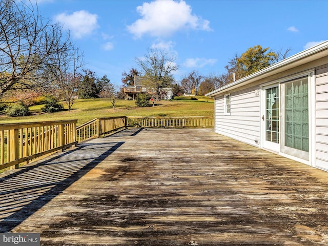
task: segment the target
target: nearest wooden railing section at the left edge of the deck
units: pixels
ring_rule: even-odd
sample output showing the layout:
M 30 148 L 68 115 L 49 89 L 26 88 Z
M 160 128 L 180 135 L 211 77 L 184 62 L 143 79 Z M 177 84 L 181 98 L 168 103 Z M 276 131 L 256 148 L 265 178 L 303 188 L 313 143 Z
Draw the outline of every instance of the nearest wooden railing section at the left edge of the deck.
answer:
M 76 122 L 0 124 L 0 170 L 76 145 Z

